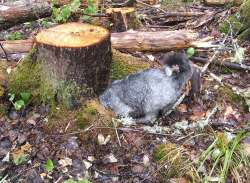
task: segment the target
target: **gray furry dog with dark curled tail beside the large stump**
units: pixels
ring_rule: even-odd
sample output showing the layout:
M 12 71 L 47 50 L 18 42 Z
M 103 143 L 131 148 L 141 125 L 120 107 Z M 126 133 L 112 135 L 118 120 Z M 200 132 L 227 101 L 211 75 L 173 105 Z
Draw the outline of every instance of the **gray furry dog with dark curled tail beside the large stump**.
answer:
M 99 97 L 105 108 L 117 116 L 152 123 L 170 110 L 192 77 L 193 66 L 181 53 L 166 54 L 162 68 L 147 69 L 114 81 Z

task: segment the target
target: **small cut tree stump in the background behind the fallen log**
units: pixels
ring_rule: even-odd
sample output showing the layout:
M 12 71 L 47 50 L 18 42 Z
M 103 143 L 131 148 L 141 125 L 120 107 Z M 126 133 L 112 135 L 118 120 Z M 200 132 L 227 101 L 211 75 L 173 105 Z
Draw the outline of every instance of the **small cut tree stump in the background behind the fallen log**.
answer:
M 124 32 L 128 29 L 137 29 L 139 27 L 140 23 L 133 7 L 108 8 L 106 13 L 111 15 L 113 22 L 112 31 Z

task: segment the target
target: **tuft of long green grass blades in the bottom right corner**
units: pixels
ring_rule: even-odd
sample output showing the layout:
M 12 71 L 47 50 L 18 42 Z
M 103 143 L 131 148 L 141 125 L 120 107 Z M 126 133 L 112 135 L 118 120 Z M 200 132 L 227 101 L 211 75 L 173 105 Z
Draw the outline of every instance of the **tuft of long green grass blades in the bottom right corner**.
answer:
M 212 166 L 207 165 L 209 174 L 206 174 L 203 182 L 209 182 L 211 177 L 217 177 L 219 183 L 225 183 L 230 174 L 235 179 L 239 171 L 245 166 L 250 168 L 250 161 L 242 151 L 240 142 L 247 135 L 247 132 L 239 132 L 236 136 L 229 133 L 219 133 L 215 135 L 213 143 L 201 154 L 198 170 L 202 169 L 206 162 L 212 162 Z

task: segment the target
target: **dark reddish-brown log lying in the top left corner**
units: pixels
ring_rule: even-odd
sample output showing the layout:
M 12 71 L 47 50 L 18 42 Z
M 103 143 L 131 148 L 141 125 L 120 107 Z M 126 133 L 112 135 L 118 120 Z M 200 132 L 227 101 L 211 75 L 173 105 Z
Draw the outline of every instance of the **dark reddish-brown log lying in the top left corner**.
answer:
M 46 1 L 0 5 L 0 30 L 50 15 L 51 7 Z

